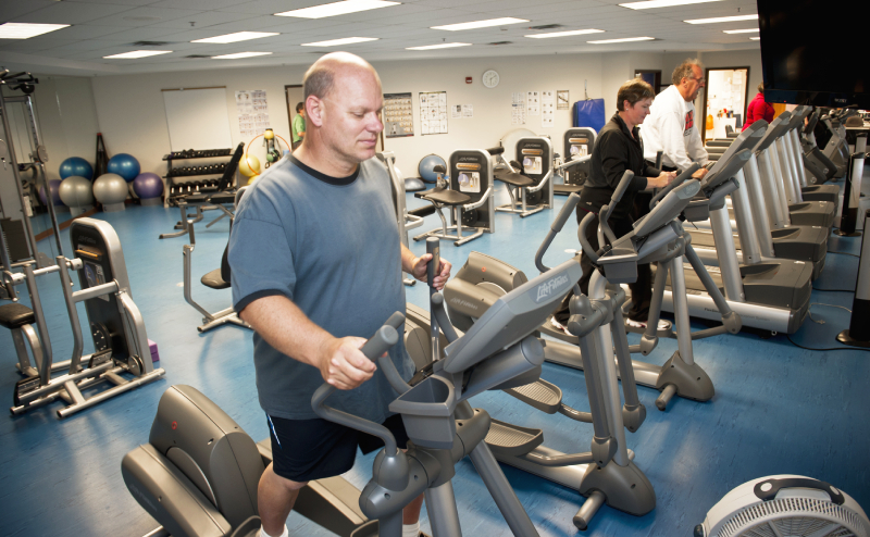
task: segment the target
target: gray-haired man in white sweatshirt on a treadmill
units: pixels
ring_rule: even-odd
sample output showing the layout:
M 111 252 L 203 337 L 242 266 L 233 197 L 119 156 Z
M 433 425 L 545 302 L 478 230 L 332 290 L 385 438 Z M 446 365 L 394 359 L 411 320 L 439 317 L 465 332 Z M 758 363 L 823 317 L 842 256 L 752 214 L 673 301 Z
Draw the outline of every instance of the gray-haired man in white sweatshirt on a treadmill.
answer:
M 673 84 L 652 101 L 649 116 L 641 128 L 644 158 L 655 162 L 656 153 L 662 151 L 662 170 L 668 172 L 686 170 L 693 162 L 705 165 L 709 160 L 700 140 L 694 103 L 704 87 L 700 62 L 684 61 L 673 71 L 671 82 Z M 695 176 L 704 177 L 706 173 L 701 168 Z

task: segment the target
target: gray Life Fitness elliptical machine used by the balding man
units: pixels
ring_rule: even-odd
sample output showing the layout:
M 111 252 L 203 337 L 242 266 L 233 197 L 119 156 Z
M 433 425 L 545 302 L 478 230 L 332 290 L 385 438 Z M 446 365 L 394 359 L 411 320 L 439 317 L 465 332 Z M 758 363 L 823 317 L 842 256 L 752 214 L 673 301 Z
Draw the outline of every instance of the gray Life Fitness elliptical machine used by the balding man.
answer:
M 437 241 L 434 242 L 437 245 Z M 430 263 L 438 266 L 438 249 Z M 383 426 L 330 409 L 325 401 L 333 387 L 324 384 L 312 397 L 312 408 L 324 420 L 382 438 L 384 450 L 374 462 L 373 478 L 359 497 L 362 513 L 377 520 L 358 527 L 353 537 L 398 537 L 401 510 L 421 492 L 434 537 L 459 536 L 459 515 L 451 477 L 457 461 L 469 455 L 514 535 L 537 536 L 529 515 L 483 442 L 489 415 L 472 409 L 468 399 L 488 389 L 534 382 L 544 352 L 532 333 L 580 277 L 568 261 L 501 297 L 477 325 L 459 336 L 437 307 L 433 330 L 445 336 L 447 357 L 405 383 L 389 359 L 378 367 L 399 397 L 390 403 L 400 413 L 409 449 L 396 448 Z M 433 294 L 433 304 L 443 304 Z M 370 358 L 381 357 L 398 340 L 405 317 L 395 313 L 363 346 Z M 440 352 L 440 351 L 439 351 Z M 438 352 L 438 353 L 439 353 Z M 136 500 L 176 537 L 251 537 L 260 527 L 257 483 L 268 461 L 235 422 L 194 388 L 175 386 L 161 399 L 149 444 L 124 457 L 122 475 Z M 304 490 L 304 489 L 303 489 Z M 335 516 L 344 516 L 336 511 Z M 380 526 L 380 529 L 378 529 Z

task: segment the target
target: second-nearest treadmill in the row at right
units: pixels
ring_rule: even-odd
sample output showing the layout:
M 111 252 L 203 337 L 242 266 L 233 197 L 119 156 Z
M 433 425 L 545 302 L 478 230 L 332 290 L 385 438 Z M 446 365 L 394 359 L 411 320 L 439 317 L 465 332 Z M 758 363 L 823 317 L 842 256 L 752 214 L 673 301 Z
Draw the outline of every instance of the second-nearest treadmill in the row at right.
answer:
M 780 127 L 780 129 L 782 128 Z M 741 188 L 744 188 L 747 192 L 748 207 L 753 213 L 754 222 L 751 226 L 748 224 L 741 226 L 742 220 L 737 212 L 745 210 L 745 208 L 741 207 L 738 209 L 734 207 L 735 224 L 739 230 L 734 236 L 734 246 L 739 250 L 742 263 L 745 265 L 771 262 L 776 259 L 805 261 L 811 263 L 812 279 L 816 279 L 824 267 L 828 252 L 828 228 L 776 225 L 768 215 L 767 200 L 776 200 L 779 192 L 765 189 L 765 184 L 759 175 L 758 159 L 775 141 L 779 134 L 775 128 L 768 128 L 766 121 L 760 120 L 753 123 L 734 140 L 734 143 L 737 145 L 735 146 L 736 151 L 742 149 L 751 150 L 748 158 L 749 161 L 743 168 L 744 182 L 741 184 Z M 747 233 L 753 234 L 755 240 L 748 242 L 744 248 L 741 238 L 745 237 Z M 712 230 L 709 227 L 689 228 L 689 234 L 698 257 L 706 264 L 717 265 L 719 258 L 716 252 Z

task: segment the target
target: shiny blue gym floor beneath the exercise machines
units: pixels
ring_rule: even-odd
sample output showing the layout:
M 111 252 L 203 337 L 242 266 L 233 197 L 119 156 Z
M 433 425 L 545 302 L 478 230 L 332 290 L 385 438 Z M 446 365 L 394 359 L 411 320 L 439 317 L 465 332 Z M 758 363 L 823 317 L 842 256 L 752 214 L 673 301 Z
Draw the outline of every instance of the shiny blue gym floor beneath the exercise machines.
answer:
M 870 180 L 865 180 L 865 185 Z M 504 193 L 501 199 L 507 199 Z M 557 207 L 564 198 L 557 197 Z M 410 207 L 420 200 L 408 197 Z M 213 216 L 212 216 L 213 215 Z M 455 273 L 469 252 L 502 259 L 527 275 L 536 274 L 534 253 L 554 213 L 527 218 L 498 213 L 496 233 L 459 248 L 445 245 L 443 257 Z M 200 315 L 184 302 L 182 247 L 186 238 L 158 240 L 171 230 L 177 210 L 128 205 L 125 212 L 99 213 L 124 245 L 133 297 L 142 312 L 148 336 L 159 345 L 164 379 L 59 420 L 60 403 L 23 416 L 0 417 L 0 535 L 9 536 L 141 536 L 157 524 L 136 503 L 121 478 L 121 459 L 147 441 L 157 403 L 173 384 L 191 385 L 223 408 L 256 440 L 266 436 L 257 401 L 249 332 L 225 326 L 199 334 Z M 207 220 L 216 213 L 207 213 Z M 436 226 L 430 216 L 423 229 Z M 194 274 L 214 268 L 226 245 L 226 218 L 211 228 L 197 226 Z M 415 232 L 419 232 L 415 230 Z M 414 233 L 414 232 L 412 232 Z M 64 234 L 69 249 L 69 236 Z M 831 237 L 829 249 L 857 254 L 860 238 Z M 373 245 L 377 239 L 373 237 Z M 412 243 L 422 254 L 425 247 Z M 566 229 L 545 262 L 568 259 L 577 248 Z M 66 252 L 70 254 L 69 250 Z M 853 289 L 858 259 L 831 254 L 822 289 Z M 210 311 L 229 304 L 229 291 L 195 284 L 194 296 Z M 40 292 L 48 313 L 54 360 L 72 352 L 72 335 L 60 298 L 57 275 L 42 277 Z M 26 290 L 21 288 L 26 295 Z M 423 285 L 407 288 L 408 301 L 427 307 Z M 848 325 L 849 292 L 812 292 L 812 317 L 792 336 L 812 348 L 840 348 L 835 335 Z M 24 300 L 26 303 L 27 300 Z M 84 317 L 84 313 L 80 315 Z M 822 324 L 823 323 L 823 324 Z M 698 325 L 699 327 L 700 325 Z M 630 335 L 630 342 L 637 336 Z M 86 342 L 88 352 L 90 342 Z M 15 353 L 7 330 L 0 330 L 0 394 L 12 400 Z M 676 349 L 663 340 L 646 360 L 663 363 Z M 695 358 L 716 385 L 707 403 L 675 399 L 667 412 L 656 410 L 658 392 L 638 388 L 647 420 L 627 435 L 635 462 L 652 483 L 656 509 L 641 517 L 601 508 L 588 536 L 688 536 L 707 511 L 735 486 L 766 475 L 794 473 L 826 480 L 870 509 L 870 355 L 857 350 L 810 351 L 778 335 L 762 339 L 742 333 L 695 342 Z M 543 377 L 558 384 L 564 402 L 588 410 L 581 372 L 546 364 Z M 474 398 L 494 417 L 545 430 L 548 446 L 586 451 L 592 427 L 560 415 L 545 415 L 501 392 Z M 347 477 L 358 486 L 368 480 L 372 457 L 359 457 Z M 508 479 L 542 536 L 575 535 L 571 519 L 583 498 L 575 491 L 505 467 Z M 453 486 L 464 535 L 510 535 L 473 466 L 458 465 Z M 328 535 L 301 516 L 290 515 L 290 535 Z M 423 526 L 428 523 L 423 520 Z

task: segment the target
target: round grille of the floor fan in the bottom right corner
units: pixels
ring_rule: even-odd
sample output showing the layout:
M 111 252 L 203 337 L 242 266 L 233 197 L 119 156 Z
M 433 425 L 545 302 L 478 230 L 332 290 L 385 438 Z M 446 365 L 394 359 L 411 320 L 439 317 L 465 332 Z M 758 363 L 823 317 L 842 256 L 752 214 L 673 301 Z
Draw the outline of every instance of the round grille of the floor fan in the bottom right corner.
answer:
M 822 517 L 813 516 L 821 515 Z M 850 509 L 815 498 L 782 498 L 759 502 L 738 511 L 722 526 L 717 537 L 865 537 L 867 528 Z M 826 533 L 816 532 L 828 528 Z

